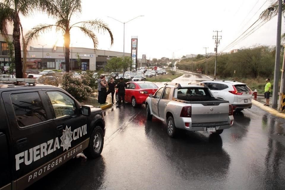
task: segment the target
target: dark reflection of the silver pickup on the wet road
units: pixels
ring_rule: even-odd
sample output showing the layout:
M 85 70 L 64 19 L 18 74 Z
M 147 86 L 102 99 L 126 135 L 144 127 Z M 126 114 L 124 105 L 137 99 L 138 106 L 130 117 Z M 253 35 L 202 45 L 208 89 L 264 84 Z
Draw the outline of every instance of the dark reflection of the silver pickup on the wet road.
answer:
M 157 154 L 167 160 L 166 166 L 179 171 L 177 175 L 184 180 L 219 184 L 227 178 L 231 159 L 219 135 L 179 131 L 173 139 L 168 137 L 166 125 L 157 119 L 146 121 L 145 134 Z

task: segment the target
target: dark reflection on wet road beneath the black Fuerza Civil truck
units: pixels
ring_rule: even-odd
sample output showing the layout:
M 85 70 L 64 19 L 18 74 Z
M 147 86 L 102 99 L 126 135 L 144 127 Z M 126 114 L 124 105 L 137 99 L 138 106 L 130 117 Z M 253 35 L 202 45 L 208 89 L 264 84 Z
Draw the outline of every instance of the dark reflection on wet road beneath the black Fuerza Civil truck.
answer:
M 31 190 L 104 189 L 106 163 L 103 157 L 87 159 L 82 153 L 31 185 Z

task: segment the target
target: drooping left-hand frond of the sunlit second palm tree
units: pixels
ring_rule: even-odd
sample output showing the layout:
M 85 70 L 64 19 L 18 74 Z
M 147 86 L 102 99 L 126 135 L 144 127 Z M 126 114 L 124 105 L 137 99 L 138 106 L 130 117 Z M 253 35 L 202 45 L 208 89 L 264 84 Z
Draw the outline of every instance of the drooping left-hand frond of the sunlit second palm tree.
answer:
M 39 25 L 35 26 L 34 28 L 32 28 L 31 30 L 29 30 L 25 35 L 26 46 L 28 47 L 29 44 L 31 43 L 31 41 L 33 39 L 37 39 L 40 34 L 51 30 L 53 28 L 53 26 L 57 26 L 57 25 L 39 24 Z

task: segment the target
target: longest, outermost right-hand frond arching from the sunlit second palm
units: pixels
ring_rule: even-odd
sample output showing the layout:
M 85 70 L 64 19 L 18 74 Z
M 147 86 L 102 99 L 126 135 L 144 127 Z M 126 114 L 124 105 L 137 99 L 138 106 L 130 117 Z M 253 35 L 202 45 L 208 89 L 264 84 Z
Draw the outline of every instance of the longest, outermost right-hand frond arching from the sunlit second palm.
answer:
M 82 22 L 78 22 L 78 23 L 73 24 L 70 28 L 76 26 L 77 24 L 82 24 L 81 27 L 92 30 L 92 31 L 93 30 L 98 31 L 98 32 L 107 31 L 110 35 L 110 38 L 111 38 L 111 45 L 113 45 L 113 43 L 114 43 L 113 34 L 112 34 L 109 26 L 106 23 L 104 23 L 102 20 L 96 19 L 96 20 L 82 21 Z

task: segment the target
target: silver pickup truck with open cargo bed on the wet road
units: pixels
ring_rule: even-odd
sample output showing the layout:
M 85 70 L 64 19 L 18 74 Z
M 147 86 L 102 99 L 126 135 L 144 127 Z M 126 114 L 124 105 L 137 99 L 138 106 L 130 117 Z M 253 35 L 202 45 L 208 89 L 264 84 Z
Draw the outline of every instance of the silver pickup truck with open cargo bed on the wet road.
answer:
M 166 83 L 145 101 L 147 119 L 152 116 L 167 123 L 167 133 L 176 128 L 221 134 L 234 123 L 233 107 L 227 100 L 216 99 L 204 84 Z

